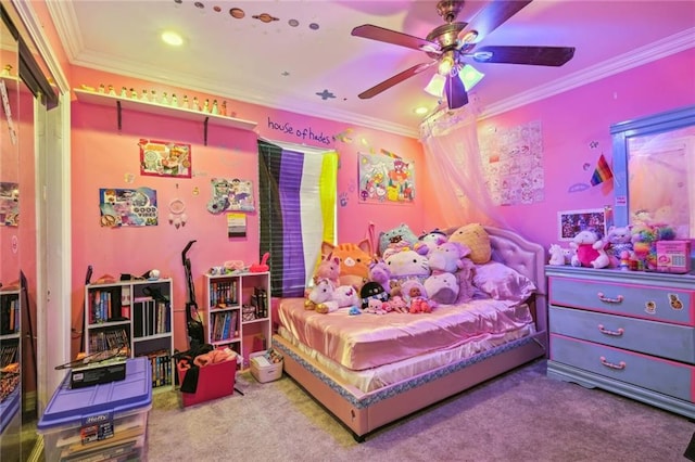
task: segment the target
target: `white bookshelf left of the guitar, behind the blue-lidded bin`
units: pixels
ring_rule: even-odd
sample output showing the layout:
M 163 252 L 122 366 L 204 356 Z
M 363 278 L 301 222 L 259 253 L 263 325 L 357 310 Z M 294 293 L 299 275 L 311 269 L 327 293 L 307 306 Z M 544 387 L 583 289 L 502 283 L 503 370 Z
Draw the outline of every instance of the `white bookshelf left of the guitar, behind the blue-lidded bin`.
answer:
M 85 286 L 85 352 L 127 348 L 148 357 L 152 386 L 172 386 L 172 280 L 136 280 Z

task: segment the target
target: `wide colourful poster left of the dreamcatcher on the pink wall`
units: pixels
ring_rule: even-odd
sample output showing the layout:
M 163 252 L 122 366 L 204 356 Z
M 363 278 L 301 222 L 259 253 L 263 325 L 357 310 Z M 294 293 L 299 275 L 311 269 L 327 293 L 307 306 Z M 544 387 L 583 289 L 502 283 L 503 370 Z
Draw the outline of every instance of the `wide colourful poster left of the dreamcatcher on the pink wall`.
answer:
M 156 191 L 150 188 L 100 189 L 99 209 L 104 228 L 157 226 Z

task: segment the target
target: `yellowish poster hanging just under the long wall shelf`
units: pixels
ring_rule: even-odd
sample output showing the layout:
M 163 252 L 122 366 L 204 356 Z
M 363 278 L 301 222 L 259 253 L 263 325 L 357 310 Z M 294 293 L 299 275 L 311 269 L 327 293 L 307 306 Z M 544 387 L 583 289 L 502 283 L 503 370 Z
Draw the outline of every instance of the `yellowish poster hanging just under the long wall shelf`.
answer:
M 140 139 L 140 175 L 191 178 L 191 145 Z

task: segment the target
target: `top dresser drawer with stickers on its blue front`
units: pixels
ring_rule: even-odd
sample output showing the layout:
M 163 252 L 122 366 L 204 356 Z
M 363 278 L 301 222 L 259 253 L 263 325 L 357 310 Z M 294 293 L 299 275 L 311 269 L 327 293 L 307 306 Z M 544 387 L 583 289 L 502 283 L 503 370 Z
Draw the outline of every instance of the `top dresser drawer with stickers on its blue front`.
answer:
M 548 284 L 552 305 L 695 325 L 695 290 L 553 277 Z

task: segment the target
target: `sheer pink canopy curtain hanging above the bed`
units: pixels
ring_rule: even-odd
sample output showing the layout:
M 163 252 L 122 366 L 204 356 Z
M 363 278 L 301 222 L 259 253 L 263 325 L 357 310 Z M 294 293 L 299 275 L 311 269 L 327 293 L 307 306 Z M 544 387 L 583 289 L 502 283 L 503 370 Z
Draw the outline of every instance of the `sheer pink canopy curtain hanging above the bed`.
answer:
M 443 227 L 471 222 L 509 228 L 494 205 L 478 146 L 477 111 L 441 110 L 420 124 L 420 142 Z

